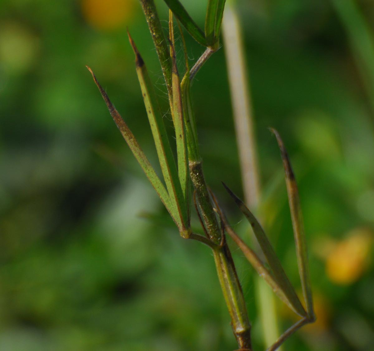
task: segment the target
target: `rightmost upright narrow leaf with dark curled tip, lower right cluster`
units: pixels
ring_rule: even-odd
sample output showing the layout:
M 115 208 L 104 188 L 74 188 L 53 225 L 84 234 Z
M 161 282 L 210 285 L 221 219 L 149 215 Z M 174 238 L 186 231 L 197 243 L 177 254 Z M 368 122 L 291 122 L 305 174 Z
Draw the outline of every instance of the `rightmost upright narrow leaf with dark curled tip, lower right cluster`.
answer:
M 275 129 L 270 128 L 275 134 L 279 149 L 281 149 L 283 167 L 285 170 L 286 186 L 289 208 L 291 211 L 292 227 L 294 229 L 294 238 L 296 245 L 297 263 L 299 268 L 301 287 L 303 289 L 306 309 L 310 317 L 314 317 L 312 287 L 309 277 L 308 253 L 306 247 L 306 238 L 304 234 L 303 217 L 301 214 L 301 206 L 297 184 L 294 172 L 292 171 L 291 163 L 289 162 L 288 154 L 283 141 Z

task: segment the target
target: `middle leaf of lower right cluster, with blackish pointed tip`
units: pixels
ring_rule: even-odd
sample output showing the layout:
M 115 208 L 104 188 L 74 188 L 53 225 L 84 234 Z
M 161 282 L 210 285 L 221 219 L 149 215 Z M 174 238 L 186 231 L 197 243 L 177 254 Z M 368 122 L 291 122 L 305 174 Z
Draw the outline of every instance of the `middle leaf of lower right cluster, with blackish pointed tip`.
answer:
M 272 245 L 270 244 L 269 239 L 267 238 L 264 230 L 262 229 L 260 223 L 258 223 L 255 216 L 249 211 L 248 207 L 240 200 L 226 184 L 223 183 L 223 186 L 226 188 L 227 192 L 234 199 L 237 206 L 243 212 L 244 216 L 248 219 L 249 223 L 252 226 L 253 232 L 257 238 L 258 243 L 260 244 L 261 250 L 266 257 L 267 262 L 269 263 L 270 268 L 272 269 L 274 278 L 278 283 L 278 286 L 285 294 L 289 302 L 294 306 L 294 309 L 299 315 L 305 316 L 306 312 L 301 305 L 301 302 L 295 292 L 295 289 L 292 287 L 291 282 L 289 281 L 286 273 L 284 272 L 281 262 L 279 261 Z

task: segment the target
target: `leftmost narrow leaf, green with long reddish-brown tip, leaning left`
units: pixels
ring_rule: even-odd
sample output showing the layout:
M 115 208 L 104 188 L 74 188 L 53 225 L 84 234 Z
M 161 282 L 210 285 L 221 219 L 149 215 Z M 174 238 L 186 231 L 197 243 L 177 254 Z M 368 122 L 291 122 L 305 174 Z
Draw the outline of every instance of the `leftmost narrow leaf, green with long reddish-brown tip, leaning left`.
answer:
M 125 121 L 122 119 L 121 115 L 118 113 L 118 111 L 115 109 L 113 104 L 110 102 L 107 93 L 105 90 L 101 87 L 99 82 L 97 81 L 95 74 L 93 74 L 91 68 L 86 66 L 90 73 L 92 74 L 93 81 L 96 83 L 97 87 L 99 88 L 99 91 L 102 95 L 102 98 L 104 99 L 105 103 L 107 104 L 108 110 L 110 112 L 110 115 L 113 117 L 114 122 L 116 123 L 119 131 L 121 132 L 123 138 L 125 139 L 126 143 L 128 144 L 130 150 L 134 154 L 135 158 L 137 159 L 140 167 L 144 171 L 145 175 L 147 176 L 148 180 L 156 190 L 157 194 L 159 195 L 161 201 L 165 205 L 165 207 L 169 210 L 169 213 L 171 214 L 174 221 L 177 220 L 177 218 L 174 217 L 174 213 L 172 213 L 172 201 L 168 194 L 168 192 L 165 189 L 165 186 L 162 184 L 160 178 L 157 176 L 156 172 L 154 171 L 153 167 L 149 163 L 147 157 L 144 155 L 143 150 L 138 144 L 138 141 L 136 140 L 134 134 L 132 134 L 129 127 L 126 125 Z

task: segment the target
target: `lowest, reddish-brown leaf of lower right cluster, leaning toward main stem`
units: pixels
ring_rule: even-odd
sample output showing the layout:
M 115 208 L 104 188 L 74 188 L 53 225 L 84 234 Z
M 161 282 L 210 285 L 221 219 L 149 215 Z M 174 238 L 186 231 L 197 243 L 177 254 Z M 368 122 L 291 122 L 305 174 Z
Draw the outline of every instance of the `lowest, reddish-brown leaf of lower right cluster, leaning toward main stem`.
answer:
M 288 297 L 283 292 L 282 288 L 279 286 L 277 281 L 274 279 L 273 275 L 268 271 L 268 269 L 264 266 L 263 262 L 258 258 L 257 254 L 250 248 L 245 242 L 233 231 L 233 229 L 226 225 L 227 233 L 232 237 L 232 239 L 236 242 L 236 245 L 242 250 L 244 256 L 248 260 L 249 263 L 253 266 L 256 272 L 260 275 L 260 277 L 264 278 L 267 284 L 273 289 L 273 292 L 281 299 L 292 311 L 296 314 L 301 316 L 305 316 L 304 309 L 302 310 L 303 314 L 300 314 L 300 304 L 298 304 L 299 309 L 288 299 Z M 299 300 L 300 302 L 300 300 Z M 302 306 L 301 306 L 302 307 Z

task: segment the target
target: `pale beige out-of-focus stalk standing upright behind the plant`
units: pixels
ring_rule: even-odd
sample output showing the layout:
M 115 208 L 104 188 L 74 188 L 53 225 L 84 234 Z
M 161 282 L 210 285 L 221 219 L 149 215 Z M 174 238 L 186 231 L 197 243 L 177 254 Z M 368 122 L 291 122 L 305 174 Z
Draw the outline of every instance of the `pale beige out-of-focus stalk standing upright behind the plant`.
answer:
M 258 176 L 253 111 L 242 31 L 233 1 L 226 2 L 223 16 L 223 42 L 245 202 L 249 208 L 255 209 L 260 200 L 260 179 Z M 255 284 L 259 295 L 257 301 L 261 323 L 263 324 L 264 342 L 266 345 L 271 345 L 272 341 L 280 335 L 275 295 L 264 286 L 266 284 L 259 276 L 255 277 Z

